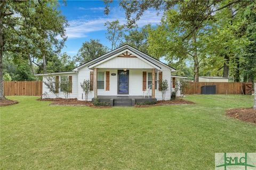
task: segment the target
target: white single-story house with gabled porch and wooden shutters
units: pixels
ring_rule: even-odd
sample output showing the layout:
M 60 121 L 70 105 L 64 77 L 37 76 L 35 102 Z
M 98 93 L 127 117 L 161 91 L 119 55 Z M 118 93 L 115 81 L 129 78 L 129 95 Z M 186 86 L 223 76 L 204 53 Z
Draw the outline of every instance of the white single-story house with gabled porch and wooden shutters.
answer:
M 84 100 L 84 91 L 81 83 L 90 80 L 91 91 L 89 100 L 93 98 L 144 98 L 143 94 L 149 94 L 149 98 L 162 100 L 162 91 L 159 82 L 167 80 L 169 88 L 166 98 L 171 98 L 171 90 L 175 85 L 172 83 L 171 73 L 176 70 L 155 58 L 140 52 L 129 45 L 121 46 L 111 52 L 95 58 L 92 61 L 77 66 L 71 72 L 36 74 L 43 76 L 46 81 L 47 76 L 54 76 L 56 81 L 65 83 L 72 81 L 70 98 Z M 177 77 L 178 78 L 178 77 Z M 49 93 L 43 83 L 43 94 L 47 97 L 55 98 Z M 59 97 L 63 98 L 63 92 L 59 89 Z

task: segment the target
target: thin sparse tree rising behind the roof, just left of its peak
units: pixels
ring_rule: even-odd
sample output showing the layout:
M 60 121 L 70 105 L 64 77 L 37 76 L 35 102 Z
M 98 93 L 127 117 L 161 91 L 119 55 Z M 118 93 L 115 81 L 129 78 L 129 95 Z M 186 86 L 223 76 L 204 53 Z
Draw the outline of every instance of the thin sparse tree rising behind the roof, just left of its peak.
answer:
M 112 22 L 105 22 L 105 26 L 107 27 L 106 38 L 111 43 L 111 50 L 115 49 L 118 46 L 118 43 L 121 41 L 124 36 L 124 25 L 120 25 L 118 20 Z

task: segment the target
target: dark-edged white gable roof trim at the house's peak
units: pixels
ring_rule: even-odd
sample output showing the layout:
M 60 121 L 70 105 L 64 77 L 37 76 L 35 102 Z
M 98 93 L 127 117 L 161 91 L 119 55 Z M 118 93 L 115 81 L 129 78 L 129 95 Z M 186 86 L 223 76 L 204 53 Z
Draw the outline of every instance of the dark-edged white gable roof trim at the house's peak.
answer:
M 125 49 L 131 50 L 131 52 L 133 52 L 134 54 L 137 54 L 138 56 L 140 56 L 144 60 L 148 61 L 151 64 L 154 64 L 157 67 L 161 68 L 161 66 L 165 66 L 165 67 L 168 67 L 171 71 L 176 71 L 176 69 L 174 69 L 173 67 L 171 67 L 171 66 L 169 66 L 169 65 L 167 65 L 167 64 L 165 64 L 165 63 L 163 63 L 163 62 L 161 62 L 159 60 L 156 60 L 156 58 L 153 58 L 153 57 L 151 57 L 151 56 L 141 52 L 140 50 L 135 49 L 132 46 L 127 45 L 127 44 L 125 44 L 125 45 L 123 45 L 123 46 L 121 46 L 119 48 L 116 48 L 116 49 L 114 49 L 114 50 L 112 50 L 112 51 L 110 51 L 110 52 L 108 52 L 108 53 L 106 53 L 106 54 L 104 54 L 104 55 L 102 55 L 102 56 L 100 56 L 98 58 L 95 58 L 95 59 L 93 59 L 93 60 L 91 60 L 89 62 L 81 64 L 81 65 L 75 67 L 73 69 L 73 71 L 77 71 L 78 69 L 80 69 L 81 67 L 84 67 L 84 66 L 90 66 L 90 65 L 96 64 L 96 63 L 98 63 L 100 61 L 105 60 L 106 58 L 108 58 L 110 56 L 113 56 L 113 55 L 115 55 L 115 54 L 117 54 L 119 52 L 122 52 Z

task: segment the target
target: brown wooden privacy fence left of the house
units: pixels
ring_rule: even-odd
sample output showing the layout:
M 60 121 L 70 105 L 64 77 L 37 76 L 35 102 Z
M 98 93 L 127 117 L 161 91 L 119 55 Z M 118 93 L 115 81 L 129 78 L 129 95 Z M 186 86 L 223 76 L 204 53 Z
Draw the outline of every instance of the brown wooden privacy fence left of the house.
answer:
M 5 81 L 5 96 L 41 96 L 43 91 L 42 81 Z

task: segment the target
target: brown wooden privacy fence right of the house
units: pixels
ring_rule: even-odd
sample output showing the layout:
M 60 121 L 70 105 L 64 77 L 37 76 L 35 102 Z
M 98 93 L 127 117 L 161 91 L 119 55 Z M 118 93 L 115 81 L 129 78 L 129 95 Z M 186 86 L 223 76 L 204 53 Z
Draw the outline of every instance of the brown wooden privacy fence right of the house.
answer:
M 185 93 L 187 95 L 201 94 L 201 87 L 205 85 L 216 85 L 216 94 L 225 94 L 225 95 L 246 94 L 245 84 L 246 85 L 251 84 L 251 83 L 244 83 L 244 82 L 189 82 L 189 83 L 190 83 L 189 87 L 185 90 Z

